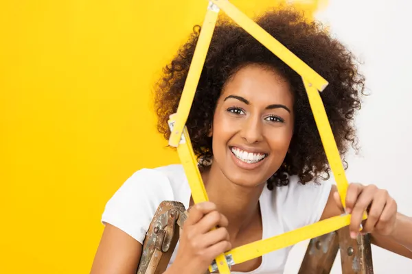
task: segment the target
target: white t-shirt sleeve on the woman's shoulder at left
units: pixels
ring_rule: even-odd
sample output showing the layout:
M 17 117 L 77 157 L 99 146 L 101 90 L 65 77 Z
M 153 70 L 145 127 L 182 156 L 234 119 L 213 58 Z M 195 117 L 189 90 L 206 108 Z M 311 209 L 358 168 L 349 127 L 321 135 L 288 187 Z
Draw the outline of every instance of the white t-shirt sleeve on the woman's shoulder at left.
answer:
M 102 223 L 109 223 L 143 243 L 157 207 L 165 200 L 173 200 L 168 177 L 155 169 L 141 169 L 108 200 Z

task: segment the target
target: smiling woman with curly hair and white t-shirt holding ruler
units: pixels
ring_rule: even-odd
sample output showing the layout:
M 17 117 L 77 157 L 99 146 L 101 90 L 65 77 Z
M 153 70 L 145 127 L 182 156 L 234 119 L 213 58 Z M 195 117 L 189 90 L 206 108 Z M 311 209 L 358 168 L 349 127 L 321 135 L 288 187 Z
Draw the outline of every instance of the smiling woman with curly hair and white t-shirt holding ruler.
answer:
M 364 79 L 340 42 L 292 9 L 268 12 L 257 23 L 329 82 L 321 97 L 339 151 L 356 142 L 353 124 Z M 159 131 L 176 112 L 199 28 L 165 67 L 156 90 Z M 91 273 L 135 273 L 141 246 L 164 200 L 193 206 L 166 273 L 205 273 L 222 252 L 341 214 L 328 161 L 301 77 L 243 29 L 216 26 L 187 120 L 210 202 L 193 206 L 181 165 L 142 169 L 106 205 L 106 225 Z M 412 258 L 412 220 L 376 186 L 351 184 L 351 236 Z M 219 228 L 210 231 L 212 227 Z M 232 273 L 282 273 L 290 247 L 232 267 Z

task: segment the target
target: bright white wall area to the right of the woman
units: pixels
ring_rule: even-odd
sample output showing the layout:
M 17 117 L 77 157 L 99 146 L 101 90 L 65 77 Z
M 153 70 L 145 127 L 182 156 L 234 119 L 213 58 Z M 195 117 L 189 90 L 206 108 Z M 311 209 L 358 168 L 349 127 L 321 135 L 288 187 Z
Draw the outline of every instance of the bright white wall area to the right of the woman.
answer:
M 412 2 L 330 0 L 318 18 L 364 62 L 369 97 L 357 119 L 361 153 L 351 155 L 350 182 L 376 184 L 412 216 Z M 411 232 L 412 234 L 412 232 Z M 285 273 L 295 274 L 308 242 L 296 245 Z M 372 249 L 374 271 L 412 273 L 412 260 Z M 332 273 L 341 273 L 339 254 Z

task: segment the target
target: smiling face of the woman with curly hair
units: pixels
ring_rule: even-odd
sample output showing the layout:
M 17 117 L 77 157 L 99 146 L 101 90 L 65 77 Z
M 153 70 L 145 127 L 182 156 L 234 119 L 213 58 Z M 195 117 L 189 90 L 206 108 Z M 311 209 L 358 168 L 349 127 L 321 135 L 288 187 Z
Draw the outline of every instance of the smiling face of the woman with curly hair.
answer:
M 293 95 L 273 69 L 248 65 L 225 85 L 212 129 L 213 164 L 233 184 L 258 186 L 282 165 L 293 136 Z

